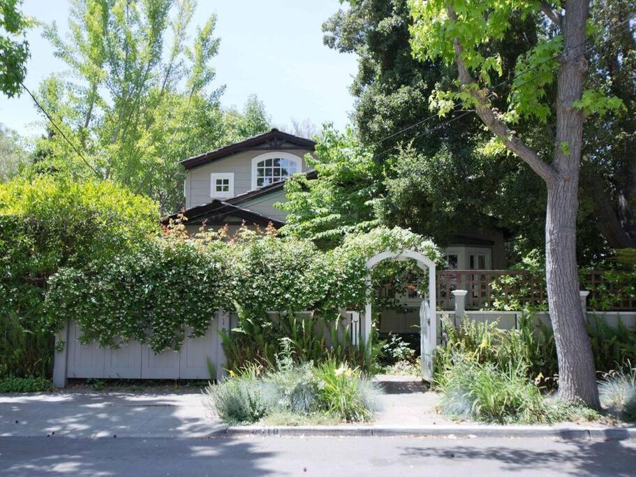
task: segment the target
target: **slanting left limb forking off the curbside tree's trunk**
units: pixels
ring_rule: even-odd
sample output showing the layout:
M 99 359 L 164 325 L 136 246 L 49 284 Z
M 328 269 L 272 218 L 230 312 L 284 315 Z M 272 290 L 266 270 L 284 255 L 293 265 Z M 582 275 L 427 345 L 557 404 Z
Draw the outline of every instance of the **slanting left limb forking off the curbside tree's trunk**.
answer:
M 452 22 L 457 20 L 452 6 L 448 6 L 448 17 Z M 462 89 L 469 91 L 473 95 L 473 98 L 475 98 L 477 103 L 475 112 L 482 122 L 488 126 L 488 129 L 490 129 L 492 133 L 501 138 L 505 147 L 508 147 L 510 151 L 517 154 L 517 156 L 528 164 L 545 182 L 553 182 L 557 177 L 556 170 L 543 161 L 536 152 L 526 146 L 522 140 L 515 136 L 514 131 L 496 117 L 488 101 L 487 91 L 485 89 L 478 90 L 472 87 L 472 85 L 476 85 L 476 83 L 470 71 L 466 68 L 464 60 L 461 59 L 461 54 L 464 50 L 458 38 L 454 38 L 453 45 L 455 49 L 455 61 L 457 63 L 457 69 L 459 70 L 459 82 Z

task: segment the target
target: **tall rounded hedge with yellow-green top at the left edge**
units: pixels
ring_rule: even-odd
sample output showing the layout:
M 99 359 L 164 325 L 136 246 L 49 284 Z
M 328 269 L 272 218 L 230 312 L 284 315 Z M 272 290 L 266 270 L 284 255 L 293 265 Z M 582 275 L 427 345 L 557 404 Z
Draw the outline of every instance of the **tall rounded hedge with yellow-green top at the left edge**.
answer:
M 0 185 L 0 376 L 46 376 L 47 280 L 134 250 L 156 231 L 157 207 L 111 182 L 39 177 Z

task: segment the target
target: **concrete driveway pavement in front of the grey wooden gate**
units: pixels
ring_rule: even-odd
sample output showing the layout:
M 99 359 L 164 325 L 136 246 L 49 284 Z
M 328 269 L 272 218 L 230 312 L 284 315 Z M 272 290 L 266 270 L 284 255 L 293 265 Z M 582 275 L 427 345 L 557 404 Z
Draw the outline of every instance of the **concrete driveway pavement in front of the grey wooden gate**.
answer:
M 198 393 L 0 395 L 0 436 L 206 437 L 224 429 Z

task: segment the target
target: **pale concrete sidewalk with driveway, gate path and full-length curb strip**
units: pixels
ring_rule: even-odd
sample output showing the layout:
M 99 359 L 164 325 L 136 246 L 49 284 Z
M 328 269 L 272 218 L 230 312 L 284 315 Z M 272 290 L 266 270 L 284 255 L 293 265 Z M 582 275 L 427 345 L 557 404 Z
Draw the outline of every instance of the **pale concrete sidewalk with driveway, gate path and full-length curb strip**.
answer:
M 0 395 L 0 437 L 84 438 L 212 436 L 505 436 L 636 439 L 636 427 L 561 423 L 554 426 L 454 423 L 436 413 L 438 395 L 417 379 L 379 376 L 387 393 L 373 424 L 233 426 L 208 416 L 200 393 L 54 392 Z

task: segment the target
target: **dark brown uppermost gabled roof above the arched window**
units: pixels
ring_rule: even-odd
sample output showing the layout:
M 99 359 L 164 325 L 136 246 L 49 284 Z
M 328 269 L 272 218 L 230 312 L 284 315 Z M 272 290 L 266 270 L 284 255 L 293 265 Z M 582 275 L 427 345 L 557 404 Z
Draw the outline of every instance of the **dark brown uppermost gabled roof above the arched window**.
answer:
M 276 149 L 284 151 L 285 149 L 310 149 L 313 151 L 314 147 L 316 147 L 316 143 L 311 139 L 300 138 L 297 135 L 283 133 L 274 128 L 267 133 L 255 135 L 251 138 L 247 138 L 246 140 L 230 144 L 229 146 L 219 147 L 219 149 L 214 149 L 214 151 L 193 156 L 190 159 L 181 161 L 181 163 L 184 168 L 193 169 L 247 150 L 262 149 L 267 151 Z

